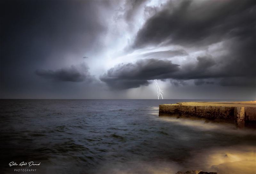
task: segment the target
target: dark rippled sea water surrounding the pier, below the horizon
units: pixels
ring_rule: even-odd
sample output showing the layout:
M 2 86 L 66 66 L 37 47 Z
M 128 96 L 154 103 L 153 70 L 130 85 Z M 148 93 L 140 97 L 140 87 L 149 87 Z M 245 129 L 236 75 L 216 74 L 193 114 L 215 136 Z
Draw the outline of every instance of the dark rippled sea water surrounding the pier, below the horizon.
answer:
M 1 172 L 255 171 L 253 130 L 158 117 L 159 104 L 179 101 L 0 100 Z M 14 172 L 29 167 L 12 161 L 41 163 Z

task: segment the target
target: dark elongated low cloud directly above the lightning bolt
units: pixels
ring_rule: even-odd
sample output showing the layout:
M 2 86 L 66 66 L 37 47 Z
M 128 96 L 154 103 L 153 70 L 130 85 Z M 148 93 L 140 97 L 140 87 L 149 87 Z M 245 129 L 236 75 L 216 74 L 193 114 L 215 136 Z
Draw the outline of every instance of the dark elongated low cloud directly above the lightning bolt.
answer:
M 148 80 L 165 79 L 179 71 L 179 65 L 168 60 L 144 59 L 136 63 L 120 64 L 100 77 L 112 89 L 137 88 Z

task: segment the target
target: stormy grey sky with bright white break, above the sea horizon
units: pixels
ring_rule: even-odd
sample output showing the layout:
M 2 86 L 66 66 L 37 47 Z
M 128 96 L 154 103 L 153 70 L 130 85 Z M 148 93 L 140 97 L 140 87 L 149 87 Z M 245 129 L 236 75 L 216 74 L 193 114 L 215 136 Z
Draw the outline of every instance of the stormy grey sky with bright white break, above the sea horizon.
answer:
M 254 1 L 0 6 L 0 98 L 256 98 Z

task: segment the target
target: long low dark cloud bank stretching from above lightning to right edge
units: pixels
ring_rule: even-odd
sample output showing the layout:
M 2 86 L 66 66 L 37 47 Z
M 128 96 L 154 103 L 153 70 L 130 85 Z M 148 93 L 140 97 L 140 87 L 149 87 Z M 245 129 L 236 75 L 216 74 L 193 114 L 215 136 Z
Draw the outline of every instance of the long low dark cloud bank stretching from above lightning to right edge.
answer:
M 217 60 L 222 61 L 222 60 Z M 194 80 L 195 85 L 218 84 L 221 86 L 255 86 L 253 74 L 245 76 L 229 70 L 211 55 L 198 56 L 196 62 L 182 66 L 169 60 L 143 59 L 135 63 L 120 64 L 100 77 L 112 89 L 137 88 L 148 85 L 148 80 L 170 79 L 175 86 L 186 85 L 186 80 Z M 222 66 L 222 68 L 220 68 Z M 253 71 L 252 71 L 253 72 Z M 207 80 L 211 79 L 211 80 Z

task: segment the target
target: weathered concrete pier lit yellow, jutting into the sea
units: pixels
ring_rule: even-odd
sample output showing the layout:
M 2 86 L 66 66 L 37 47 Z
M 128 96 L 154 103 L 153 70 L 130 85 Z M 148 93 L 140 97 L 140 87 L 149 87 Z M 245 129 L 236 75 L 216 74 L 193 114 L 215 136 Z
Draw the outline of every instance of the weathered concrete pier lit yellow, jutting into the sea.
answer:
M 179 102 L 159 105 L 159 116 L 189 116 L 234 122 L 237 127 L 255 127 L 256 101 L 242 102 Z

